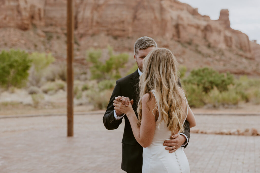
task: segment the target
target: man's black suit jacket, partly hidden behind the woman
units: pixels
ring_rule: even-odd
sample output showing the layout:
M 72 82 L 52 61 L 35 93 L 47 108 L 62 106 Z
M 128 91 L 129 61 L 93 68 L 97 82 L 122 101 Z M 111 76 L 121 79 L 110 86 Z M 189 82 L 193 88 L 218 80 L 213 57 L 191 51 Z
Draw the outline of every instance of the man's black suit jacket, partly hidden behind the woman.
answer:
M 127 75 L 116 81 L 114 91 L 111 95 L 110 101 L 107 106 L 105 115 L 103 116 L 103 123 L 108 130 L 113 130 L 118 128 L 122 119 L 116 120 L 114 117 L 114 106 L 113 100 L 117 96 L 129 97 L 130 100 L 134 100 L 132 105 L 137 116 L 137 104 L 139 98 L 139 73 L 136 70 L 134 73 Z M 142 172 L 142 151 L 143 147 L 135 140 L 130 122 L 127 116 L 125 119 L 125 129 L 122 139 L 122 170 L 126 172 Z M 185 121 L 185 131 L 184 134 L 190 139 L 190 124 Z M 187 146 L 187 144 L 186 144 Z M 185 146 L 185 147 L 186 147 Z

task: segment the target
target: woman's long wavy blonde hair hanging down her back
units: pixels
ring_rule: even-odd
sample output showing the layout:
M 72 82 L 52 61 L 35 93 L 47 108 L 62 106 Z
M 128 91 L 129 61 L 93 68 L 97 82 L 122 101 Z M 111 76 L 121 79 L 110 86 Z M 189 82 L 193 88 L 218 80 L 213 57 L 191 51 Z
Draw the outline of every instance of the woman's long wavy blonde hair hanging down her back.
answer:
M 158 110 L 170 131 L 184 130 L 183 122 L 185 110 L 182 107 L 184 94 L 178 85 L 178 62 L 173 53 L 165 48 L 154 49 L 143 60 L 143 74 L 139 82 L 138 122 L 142 120 L 142 96 L 154 89 L 157 102 L 160 105 Z M 158 109 L 157 104 L 155 108 Z

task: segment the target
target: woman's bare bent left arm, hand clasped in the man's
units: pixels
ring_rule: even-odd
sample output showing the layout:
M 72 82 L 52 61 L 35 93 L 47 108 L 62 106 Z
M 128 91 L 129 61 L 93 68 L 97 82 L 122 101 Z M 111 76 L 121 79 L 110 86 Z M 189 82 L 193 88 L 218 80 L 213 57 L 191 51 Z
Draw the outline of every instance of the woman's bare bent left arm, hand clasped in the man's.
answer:
M 153 96 L 153 95 L 152 95 Z M 155 99 L 154 97 L 149 101 L 149 94 L 146 93 L 142 97 L 142 123 L 139 127 L 137 125 L 137 117 L 131 105 L 126 107 L 122 102 L 114 100 L 116 107 L 114 109 L 125 113 L 132 127 L 132 131 L 136 141 L 144 148 L 148 147 L 153 140 L 155 131 Z M 153 114 L 154 113 L 154 114 Z

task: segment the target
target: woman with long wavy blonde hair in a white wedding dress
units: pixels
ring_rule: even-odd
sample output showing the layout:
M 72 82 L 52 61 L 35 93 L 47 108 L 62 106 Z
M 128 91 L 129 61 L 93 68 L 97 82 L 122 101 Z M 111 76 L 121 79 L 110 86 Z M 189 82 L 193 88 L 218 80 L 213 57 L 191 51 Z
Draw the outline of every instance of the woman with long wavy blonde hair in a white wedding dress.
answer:
M 125 106 L 118 98 L 114 100 L 114 109 L 126 114 L 136 141 L 144 147 L 142 172 L 145 173 L 190 172 L 182 147 L 170 153 L 162 145 L 165 139 L 170 140 L 171 135 L 184 130 L 186 119 L 190 127 L 196 125 L 183 89 L 177 83 L 177 66 L 173 53 L 165 48 L 151 51 L 143 60 L 138 119 L 131 104 Z

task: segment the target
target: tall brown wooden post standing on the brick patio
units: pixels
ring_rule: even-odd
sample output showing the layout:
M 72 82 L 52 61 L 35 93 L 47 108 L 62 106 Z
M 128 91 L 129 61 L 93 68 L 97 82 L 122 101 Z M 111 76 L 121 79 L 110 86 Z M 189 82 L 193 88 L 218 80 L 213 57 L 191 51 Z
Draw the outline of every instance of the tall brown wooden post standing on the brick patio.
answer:
M 67 134 L 73 136 L 73 0 L 67 0 Z

